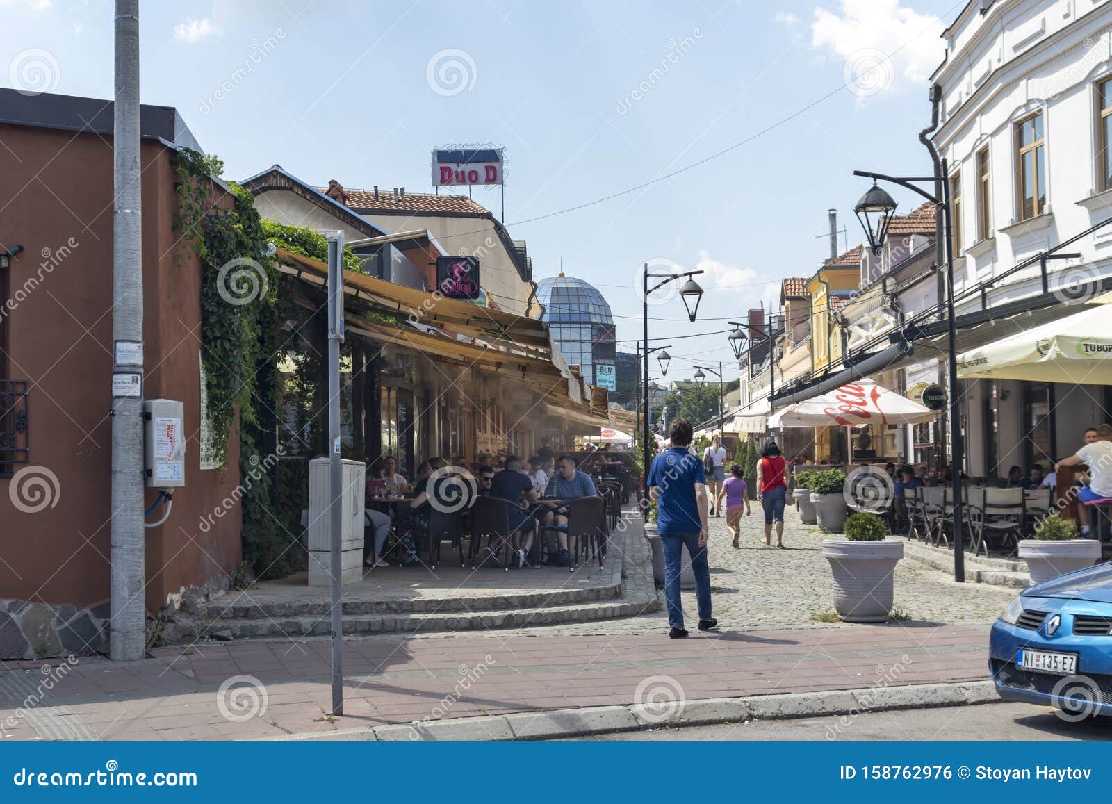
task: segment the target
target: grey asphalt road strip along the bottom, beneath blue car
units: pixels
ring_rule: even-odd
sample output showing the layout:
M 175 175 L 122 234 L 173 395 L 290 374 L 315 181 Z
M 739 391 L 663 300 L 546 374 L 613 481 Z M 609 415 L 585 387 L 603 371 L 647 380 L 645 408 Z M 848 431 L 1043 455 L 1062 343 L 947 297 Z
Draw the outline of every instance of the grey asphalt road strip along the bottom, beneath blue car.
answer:
M 856 718 L 810 717 L 662 728 L 589 737 L 605 741 L 1109 741 L 1112 717 L 1065 723 L 1052 709 L 1013 703 L 871 712 Z

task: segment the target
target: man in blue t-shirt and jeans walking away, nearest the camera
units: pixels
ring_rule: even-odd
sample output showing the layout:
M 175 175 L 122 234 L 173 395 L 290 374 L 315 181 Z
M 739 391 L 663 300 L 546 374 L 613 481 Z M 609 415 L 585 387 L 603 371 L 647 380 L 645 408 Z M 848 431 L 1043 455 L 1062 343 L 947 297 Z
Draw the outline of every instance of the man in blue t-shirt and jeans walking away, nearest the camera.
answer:
M 672 447 L 653 458 L 648 470 L 648 496 L 656 503 L 656 532 L 664 548 L 664 599 L 668 605 L 668 633 L 673 639 L 687 636 L 679 598 L 679 572 L 684 546 L 691 556 L 698 603 L 698 629 L 711 631 L 718 621 L 711 616 L 711 567 L 706 560 L 706 475 L 703 461 L 688 451 L 692 426 L 676 419 L 668 430 Z

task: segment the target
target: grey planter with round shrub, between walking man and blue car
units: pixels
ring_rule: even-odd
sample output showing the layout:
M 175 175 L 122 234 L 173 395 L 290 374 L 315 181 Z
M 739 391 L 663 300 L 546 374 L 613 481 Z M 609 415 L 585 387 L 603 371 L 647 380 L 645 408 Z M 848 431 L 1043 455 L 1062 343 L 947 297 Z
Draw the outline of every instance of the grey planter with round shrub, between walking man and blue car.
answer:
M 845 538 L 823 539 L 823 558 L 834 577 L 834 611 L 847 623 L 884 623 L 903 542 L 885 538 L 884 520 L 876 514 L 853 514 L 843 529 Z

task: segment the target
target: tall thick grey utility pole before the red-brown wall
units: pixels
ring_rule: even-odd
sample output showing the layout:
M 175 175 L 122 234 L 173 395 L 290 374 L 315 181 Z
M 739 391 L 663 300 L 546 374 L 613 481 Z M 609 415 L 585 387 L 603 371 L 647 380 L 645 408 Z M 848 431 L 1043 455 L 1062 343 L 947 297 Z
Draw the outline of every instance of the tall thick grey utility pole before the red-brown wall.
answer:
M 142 198 L 139 192 L 139 0 L 116 0 L 112 132 L 112 589 L 109 649 L 147 648 L 143 595 Z

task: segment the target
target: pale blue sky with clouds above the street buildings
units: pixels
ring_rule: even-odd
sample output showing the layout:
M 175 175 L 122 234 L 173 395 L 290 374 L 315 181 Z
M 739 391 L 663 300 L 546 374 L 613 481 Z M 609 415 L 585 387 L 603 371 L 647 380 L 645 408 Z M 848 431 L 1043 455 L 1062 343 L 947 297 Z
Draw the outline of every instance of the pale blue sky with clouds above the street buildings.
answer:
M 146 0 L 140 97 L 177 107 L 230 179 L 278 163 L 427 192 L 434 148 L 504 147 L 505 210 L 497 190 L 475 200 L 528 242 L 535 279 L 563 265 L 602 290 L 619 348 L 641 337 L 643 264 L 704 271 L 696 322 L 671 294 L 649 308 L 683 379 L 736 370 L 726 320 L 817 270 L 828 208 L 840 250 L 861 242 L 854 169 L 930 172 L 929 77 L 962 6 Z M 112 14 L 0 0 L 0 85 L 109 98 Z

